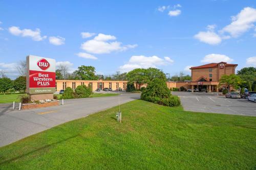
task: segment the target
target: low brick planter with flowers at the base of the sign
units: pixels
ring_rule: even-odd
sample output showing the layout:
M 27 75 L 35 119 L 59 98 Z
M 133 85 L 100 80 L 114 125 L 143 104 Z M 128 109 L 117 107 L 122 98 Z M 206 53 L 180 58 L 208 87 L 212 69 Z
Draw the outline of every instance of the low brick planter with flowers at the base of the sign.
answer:
M 41 107 L 50 107 L 50 106 L 58 106 L 59 101 L 58 100 L 43 100 L 38 101 L 36 103 L 28 103 L 28 104 L 22 104 L 22 110 L 28 110 L 28 109 L 36 109 Z

